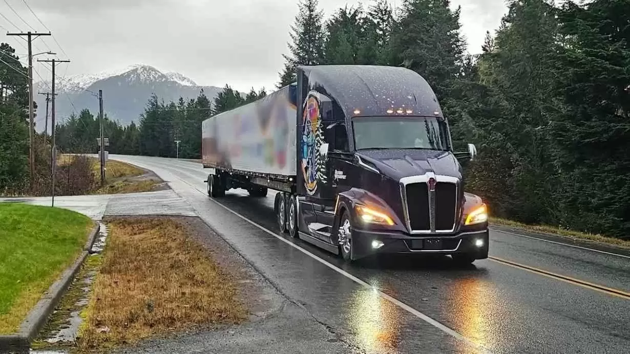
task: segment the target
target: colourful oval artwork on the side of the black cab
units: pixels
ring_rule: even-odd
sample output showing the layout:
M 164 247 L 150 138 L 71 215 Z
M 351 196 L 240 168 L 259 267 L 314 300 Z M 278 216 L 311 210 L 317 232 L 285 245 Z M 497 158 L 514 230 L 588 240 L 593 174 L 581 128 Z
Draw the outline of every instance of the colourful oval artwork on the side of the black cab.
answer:
M 309 196 L 317 192 L 318 182 L 326 183 L 326 162 L 319 155 L 319 147 L 324 143 L 321 122 L 321 109 L 316 92 L 309 93 L 304 102 L 302 116 L 301 167 L 304 187 Z

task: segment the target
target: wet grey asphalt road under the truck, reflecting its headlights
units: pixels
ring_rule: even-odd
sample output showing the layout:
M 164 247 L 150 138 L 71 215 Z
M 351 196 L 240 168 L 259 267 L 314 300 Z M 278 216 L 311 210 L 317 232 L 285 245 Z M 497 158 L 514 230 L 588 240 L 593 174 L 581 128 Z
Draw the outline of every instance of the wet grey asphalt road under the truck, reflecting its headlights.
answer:
M 320 323 L 366 352 L 627 353 L 630 301 L 495 260 L 387 257 L 345 265 L 277 236 L 273 193 L 205 193 L 199 163 L 110 155 L 150 169 Z M 137 205 L 142 208 L 142 205 Z M 121 213 L 123 211 L 120 211 Z M 266 229 L 266 230 L 264 230 Z M 630 291 L 630 258 L 491 231 L 490 255 Z M 480 348 L 479 346 L 483 346 Z

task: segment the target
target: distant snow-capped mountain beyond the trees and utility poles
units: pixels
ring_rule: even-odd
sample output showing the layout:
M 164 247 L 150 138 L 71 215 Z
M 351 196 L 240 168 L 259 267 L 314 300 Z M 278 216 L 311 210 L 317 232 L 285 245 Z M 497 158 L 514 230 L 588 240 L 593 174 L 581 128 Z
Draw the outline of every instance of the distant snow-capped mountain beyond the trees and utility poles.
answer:
M 136 64 L 119 70 L 98 74 L 68 75 L 58 79 L 55 92 L 57 121 L 88 108 L 98 114 L 98 99 L 93 92 L 103 90 L 103 107 L 107 116 L 122 124 L 138 122 L 152 94 L 164 102 L 186 101 L 203 93 L 210 100 L 221 92 L 214 86 L 198 86 L 192 79 L 178 72 L 161 72 L 151 65 Z M 35 82 L 35 92 L 50 92 L 50 83 Z M 37 131 L 43 131 L 46 116 L 45 96 L 37 95 Z M 50 125 L 49 125 L 50 131 Z

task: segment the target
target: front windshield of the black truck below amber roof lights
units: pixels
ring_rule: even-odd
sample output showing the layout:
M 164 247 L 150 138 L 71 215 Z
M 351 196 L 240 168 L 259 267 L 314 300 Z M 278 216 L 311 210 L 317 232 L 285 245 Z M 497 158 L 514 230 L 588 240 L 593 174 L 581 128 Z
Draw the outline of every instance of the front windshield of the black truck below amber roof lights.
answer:
M 449 150 L 447 126 L 435 117 L 357 117 L 355 149 Z

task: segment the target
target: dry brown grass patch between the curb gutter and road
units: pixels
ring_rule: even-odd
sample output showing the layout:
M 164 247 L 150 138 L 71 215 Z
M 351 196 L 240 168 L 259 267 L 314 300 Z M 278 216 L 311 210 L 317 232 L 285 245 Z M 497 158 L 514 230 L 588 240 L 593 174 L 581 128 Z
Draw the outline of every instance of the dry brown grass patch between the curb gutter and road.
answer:
M 135 343 L 200 324 L 241 323 L 232 279 L 173 219 L 117 219 L 79 333 L 79 350 Z

